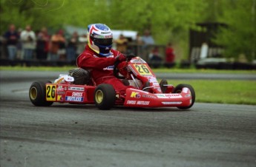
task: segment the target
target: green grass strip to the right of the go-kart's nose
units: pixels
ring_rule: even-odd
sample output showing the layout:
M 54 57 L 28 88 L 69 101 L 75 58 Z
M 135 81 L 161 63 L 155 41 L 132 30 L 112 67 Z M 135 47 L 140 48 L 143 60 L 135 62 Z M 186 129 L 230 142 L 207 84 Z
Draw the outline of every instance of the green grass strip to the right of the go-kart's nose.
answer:
M 191 84 L 196 102 L 256 105 L 256 81 L 168 80 L 168 83 L 174 86 Z

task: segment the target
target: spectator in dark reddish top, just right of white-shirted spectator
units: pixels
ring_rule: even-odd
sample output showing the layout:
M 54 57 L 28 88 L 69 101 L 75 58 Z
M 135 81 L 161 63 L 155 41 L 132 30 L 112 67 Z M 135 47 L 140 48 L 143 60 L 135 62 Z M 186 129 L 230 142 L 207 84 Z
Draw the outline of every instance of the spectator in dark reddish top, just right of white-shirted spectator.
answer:
M 36 58 L 39 60 L 46 60 L 47 52 L 49 50 L 50 35 L 47 33 L 47 28 L 42 27 L 37 35 L 36 44 Z

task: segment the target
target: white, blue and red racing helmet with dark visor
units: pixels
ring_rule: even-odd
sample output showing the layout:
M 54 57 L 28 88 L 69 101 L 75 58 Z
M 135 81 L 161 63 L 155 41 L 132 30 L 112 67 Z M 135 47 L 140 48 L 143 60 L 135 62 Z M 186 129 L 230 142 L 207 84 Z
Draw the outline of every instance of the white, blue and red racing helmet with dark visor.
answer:
M 102 56 L 111 55 L 113 34 L 105 24 L 88 25 L 88 46 Z

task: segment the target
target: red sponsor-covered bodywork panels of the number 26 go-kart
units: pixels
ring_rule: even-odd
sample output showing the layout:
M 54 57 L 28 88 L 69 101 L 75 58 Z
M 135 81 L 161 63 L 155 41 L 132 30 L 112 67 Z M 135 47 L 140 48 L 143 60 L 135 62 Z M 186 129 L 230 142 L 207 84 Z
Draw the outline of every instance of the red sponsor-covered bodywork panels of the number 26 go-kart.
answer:
M 133 58 L 128 62 L 128 73 L 131 78 L 137 78 L 141 84 L 137 88 L 126 89 L 125 95 L 116 92 L 116 105 L 127 107 L 165 107 L 165 106 L 190 106 L 192 103 L 191 92 L 183 88 L 179 93 L 171 93 L 174 86 L 168 85 L 163 93 L 154 72 L 141 58 Z M 130 79 L 131 79 L 130 78 Z M 147 92 L 142 90 L 142 85 L 149 81 Z M 63 83 L 46 84 L 46 100 L 60 103 L 94 103 L 94 90 L 96 86 L 74 85 Z

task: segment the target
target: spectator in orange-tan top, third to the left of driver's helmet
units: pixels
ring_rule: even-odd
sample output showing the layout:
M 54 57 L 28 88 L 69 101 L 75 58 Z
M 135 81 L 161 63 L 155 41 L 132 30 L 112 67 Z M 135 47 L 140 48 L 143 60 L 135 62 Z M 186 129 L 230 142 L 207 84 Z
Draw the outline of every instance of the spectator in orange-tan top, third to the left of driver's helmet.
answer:
M 50 38 L 48 60 L 56 61 L 65 58 L 65 38 L 63 30 L 59 30 Z

